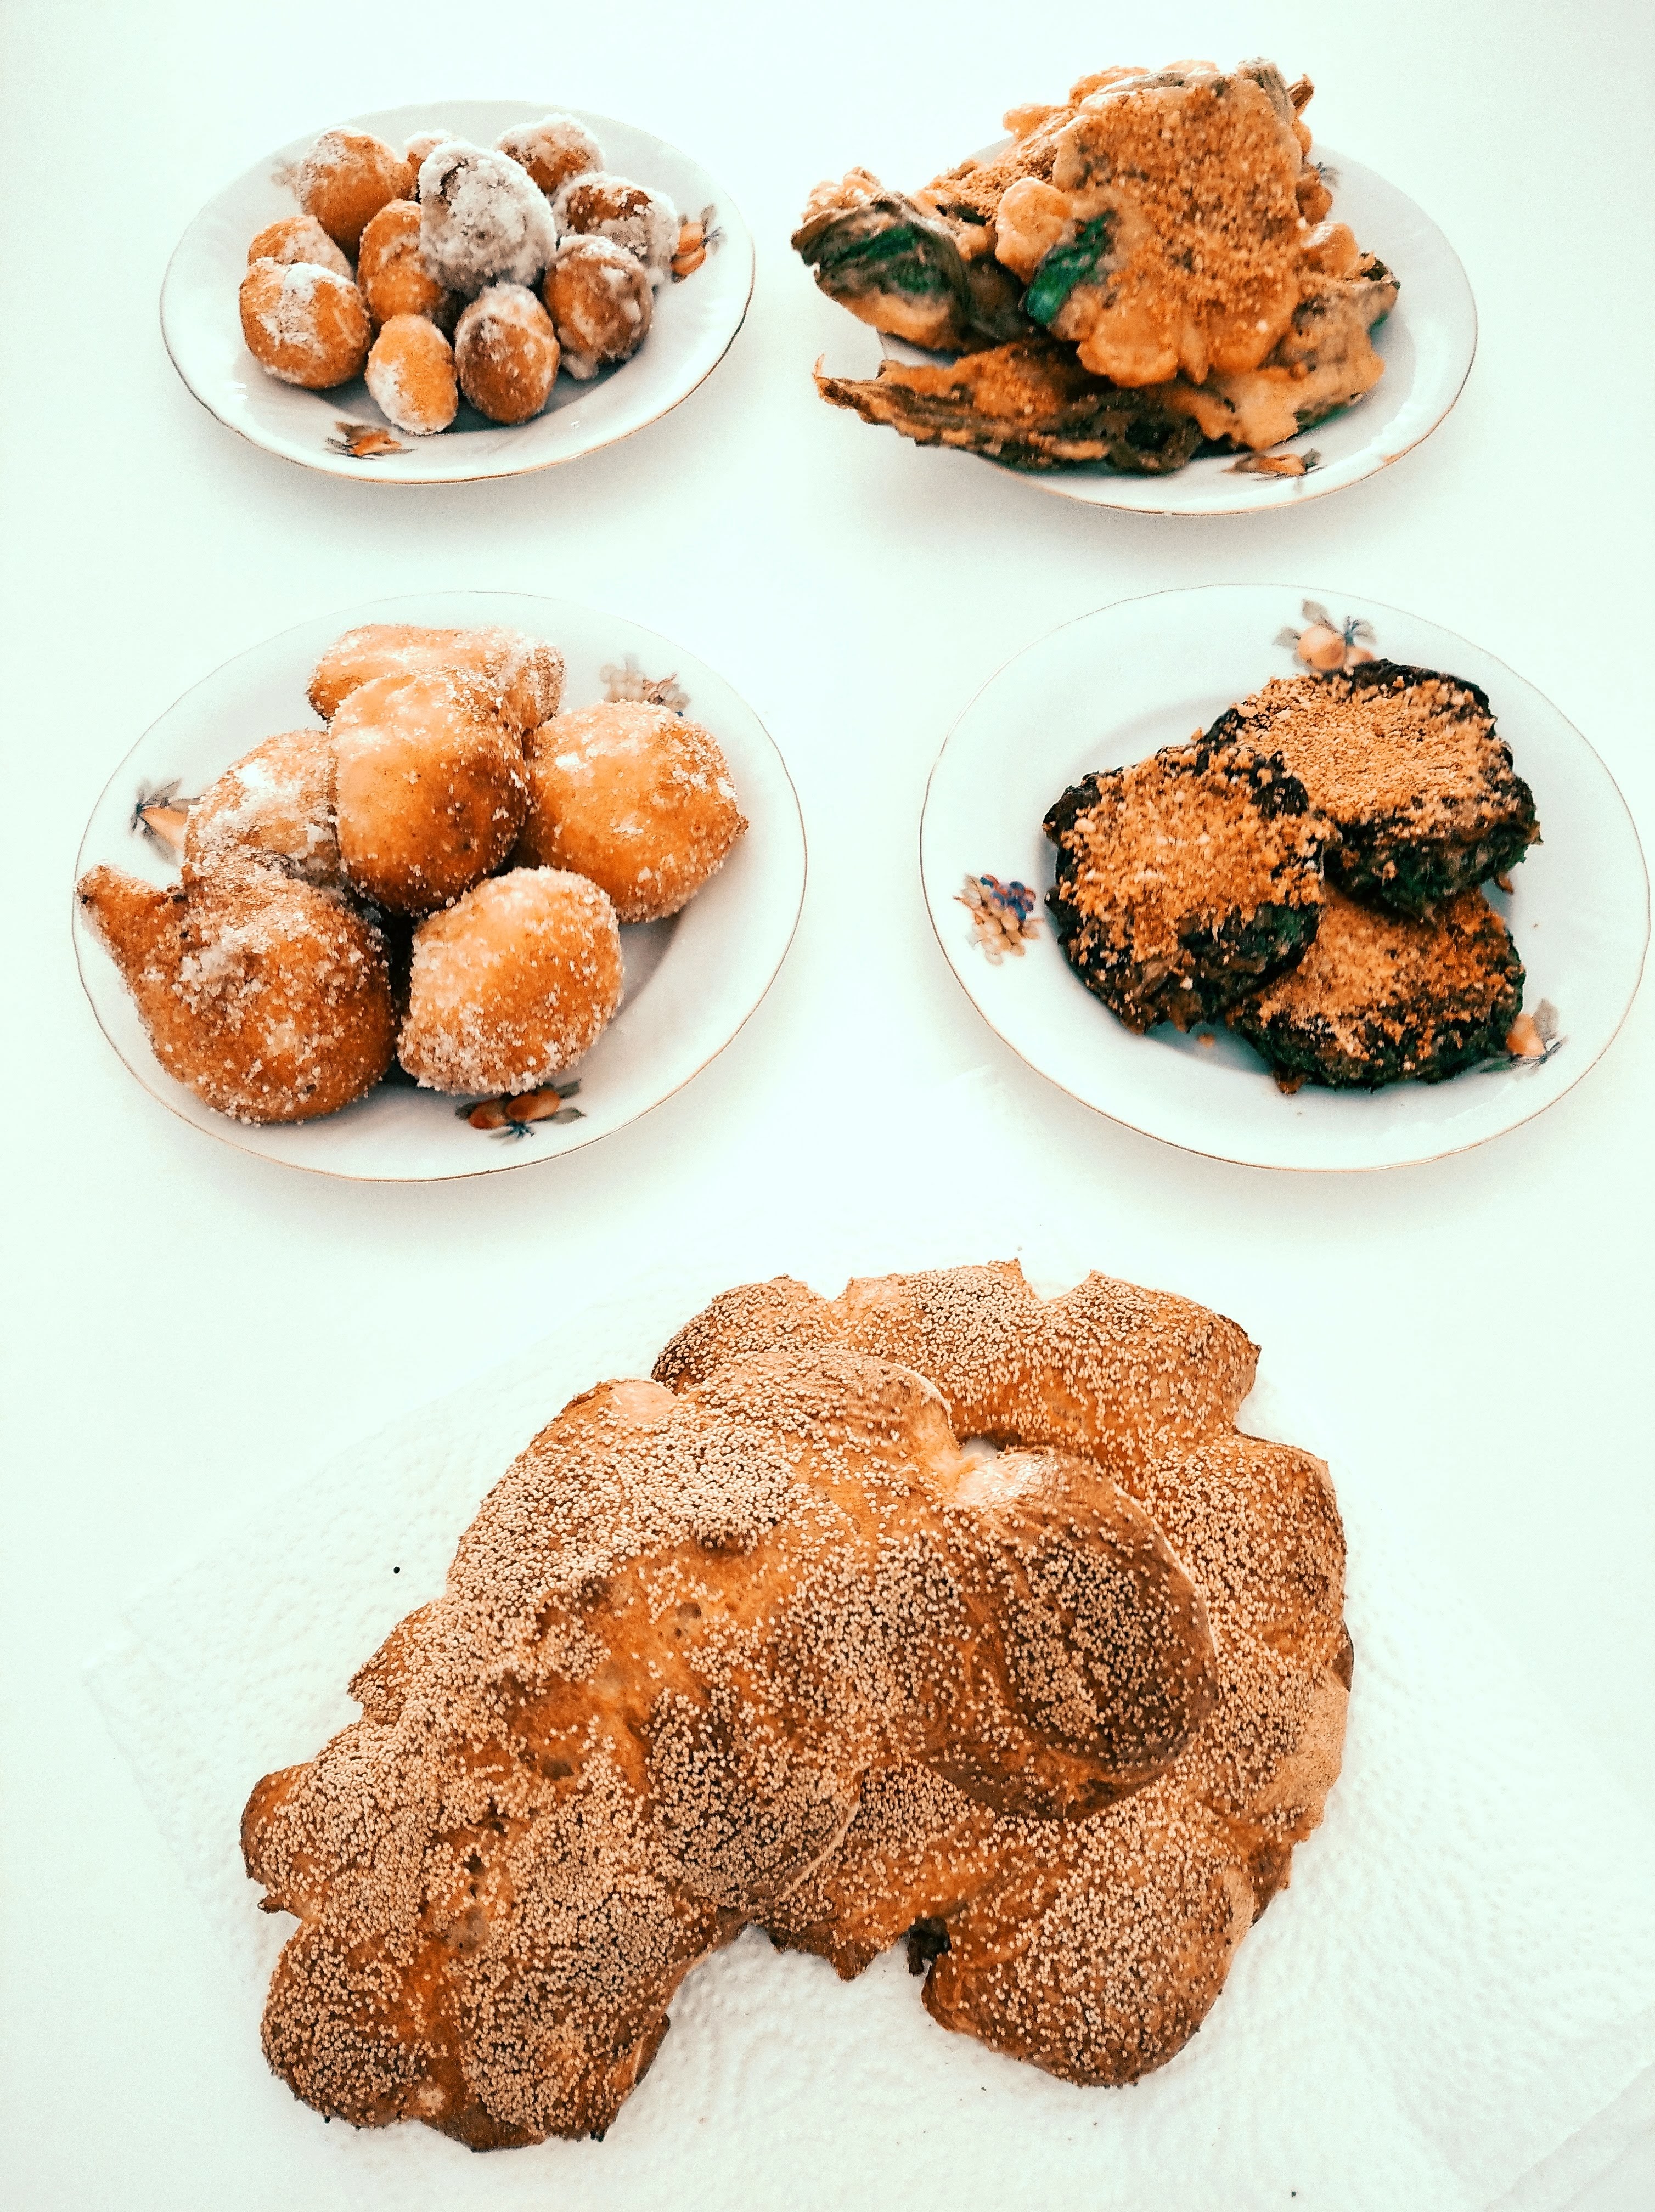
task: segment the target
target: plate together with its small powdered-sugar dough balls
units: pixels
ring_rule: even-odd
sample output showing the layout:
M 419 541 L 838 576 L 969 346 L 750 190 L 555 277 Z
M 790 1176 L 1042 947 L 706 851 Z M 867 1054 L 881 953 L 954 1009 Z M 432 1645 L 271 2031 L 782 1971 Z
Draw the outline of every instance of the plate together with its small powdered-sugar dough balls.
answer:
M 697 161 L 606 115 L 451 100 L 310 133 L 184 232 L 162 334 L 221 422 L 392 484 L 522 476 L 712 374 L 752 237 Z

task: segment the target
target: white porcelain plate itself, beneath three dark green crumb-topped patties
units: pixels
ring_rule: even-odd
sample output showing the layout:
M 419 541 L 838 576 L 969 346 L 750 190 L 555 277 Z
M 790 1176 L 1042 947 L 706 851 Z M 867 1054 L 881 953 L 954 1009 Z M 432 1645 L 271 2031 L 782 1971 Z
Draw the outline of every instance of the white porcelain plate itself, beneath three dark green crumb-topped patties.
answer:
M 1277 1091 L 1228 1031 L 1133 1035 L 1071 971 L 1042 920 L 1022 958 L 991 967 L 956 902 L 967 876 L 1053 880 L 1051 803 L 1204 730 L 1272 675 L 1303 675 L 1279 633 L 1305 599 L 1370 622 L 1387 659 L 1480 684 L 1540 810 L 1542 843 L 1513 869 L 1505 914 L 1529 971 L 1524 1006 L 1555 1009 L 1542 1060 L 1385 1091 Z M 920 874 L 949 967 L 985 1022 L 1060 1088 L 1166 1144 L 1257 1168 L 1398 1168 L 1498 1137 L 1562 1097 L 1609 1046 L 1637 991 L 1648 876 L 1626 803 L 1584 737 L 1520 675 L 1465 637 L 1376 602 L 1288 584 L 1212 584 L 1126 599 L 1009 661 L 960 714 L 931 770 Z M 1044 905 L 1035 907 L 1044 916 Z

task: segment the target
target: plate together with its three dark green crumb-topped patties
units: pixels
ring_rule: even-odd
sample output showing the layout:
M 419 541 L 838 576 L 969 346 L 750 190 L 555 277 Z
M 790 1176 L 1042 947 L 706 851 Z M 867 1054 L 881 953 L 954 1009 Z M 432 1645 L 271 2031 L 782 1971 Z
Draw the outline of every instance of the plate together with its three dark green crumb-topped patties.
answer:
M 1126 599 L 931 770 L 931 922 L 1033 1068 L 1166 1144 L 1396 1168 L 1533 1119 L 1648 945 L 1613 776 L 1491 653 L 1288 584 Z

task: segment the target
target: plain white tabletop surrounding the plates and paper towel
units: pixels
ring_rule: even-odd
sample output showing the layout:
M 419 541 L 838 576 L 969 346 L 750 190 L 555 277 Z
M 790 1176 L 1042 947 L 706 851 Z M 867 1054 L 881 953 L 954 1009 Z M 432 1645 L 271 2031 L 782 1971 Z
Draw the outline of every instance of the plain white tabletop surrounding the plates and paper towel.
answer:
M 1646 11 L 1142 7 L 1126 53 L 1091 9 L 967 0 L 865 18 L 11 0 L 4 38 L 7 2203 L 334 2203 L 314 2121 L 263 2075 L 86 1694 L 124 1595 L 737 1194 L 808 1210 L 823 1148 L 874 1152 L 892 1102 L 985 1060 L 1073 1179 L 1097 1265 L 1224 1307 L 1283 1380 L 1312 1378 L 1345 1460 L 1392 1482 L 1536 1694 L 1655 1818 L 1648 995 L 1571 1097 L 1467 1159 L 1221 1168 L 1002 1053 L 940 962 L 914 849 L 943 730 L 1022 644 L 1126 593 L 1272 577 L 1345 582 L 1509 659 L 1655 843 L 1631 407 L 1655 336 Z M 1482 349 L 1425 447 L 1303 513 L 1162 522 L 1069 509 L 816 403 L 810 361 L 843 319 L 785 230 L 819 175 L 923 181 L 1082 69 L 1252 51 L 1308 69 L 1312 126 L 1465 259 Z M 162 352 L 177 232 L 266 146 L 445 88 L 624 113 L 706 159 L 759 237 L 748 330 L 666 422 L 551 476 L 396 491 L 254 453 Z M 206 668 L 334 602 L 438 584 L 602 599 L 712 661 L 788 757 L 812 885 L 766 1006 L 633 1130 L 485 1183 L 345 1188 L 241 1159 L 131 1082 L 75 984 L 71 863 L 113 761 Z M 1653 2185 L 1633 2152 L 1582 2208 Z

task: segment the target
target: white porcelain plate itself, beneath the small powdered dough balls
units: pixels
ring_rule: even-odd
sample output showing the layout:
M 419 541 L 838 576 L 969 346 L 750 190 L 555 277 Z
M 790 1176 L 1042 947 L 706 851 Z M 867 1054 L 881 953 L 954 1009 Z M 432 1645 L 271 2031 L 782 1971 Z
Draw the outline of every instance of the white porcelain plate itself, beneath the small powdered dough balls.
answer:
M 398 148 L 416 131 L 436 128 L 493 146 L 502 131 L 538 119 L 547 106 L 544 100 L 440 100 L 345 122 Z M 752 296 L 752 237 L 724 186 L 677 146 L 608 115 L 566 113 L 586 124 L 611 170 L 668 192 L 686 217 L 710 210 L 706 261 L 681 283 L 662 285 L 650 334 L 631 361 L 591 383 L 560 376 L 544 414 L 531 422 L 502 427 L 460 407 L 454 429 L 436 438 L 394 431 L 361 378 L 334 392 L 301 392 L 268 376 L 241 343 L 237 294 L 248 241 L 279 215 L 299 212 L 283 173 L 312 144 L 312 131 L 254 161 L 179 239 L 162 283 L 162 336 L 184 383 L 219 422 L 266 451 L 381 484 L 524 476 L 613 445 L 677 407 L 724 361 L 741 327 Z M 352 445 L 367 449 L 352 456 Z

